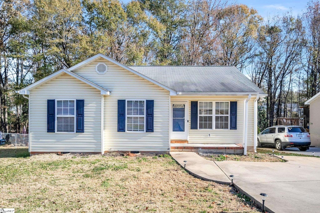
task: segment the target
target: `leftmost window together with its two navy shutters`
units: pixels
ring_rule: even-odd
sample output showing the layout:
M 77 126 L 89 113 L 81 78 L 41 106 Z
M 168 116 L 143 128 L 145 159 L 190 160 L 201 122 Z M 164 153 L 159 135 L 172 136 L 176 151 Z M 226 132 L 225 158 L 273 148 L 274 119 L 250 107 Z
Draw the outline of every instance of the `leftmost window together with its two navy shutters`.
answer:
M 83 133 L 84 100 L 47 100 L 47 132 Z

